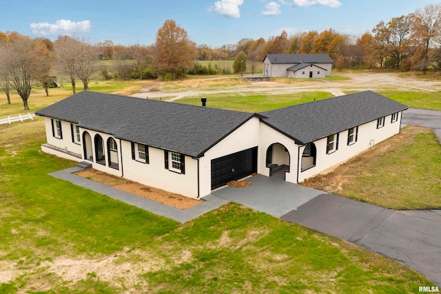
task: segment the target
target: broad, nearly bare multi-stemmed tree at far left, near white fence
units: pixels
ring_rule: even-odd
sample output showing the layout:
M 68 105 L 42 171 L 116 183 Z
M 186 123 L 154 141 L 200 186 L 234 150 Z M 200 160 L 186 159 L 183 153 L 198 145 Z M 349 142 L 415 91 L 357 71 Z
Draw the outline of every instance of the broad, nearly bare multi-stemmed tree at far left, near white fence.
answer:
M 41 42 L 19 34 L 11 35 L 9 43 L 1 44 L 0 72 L 8 73 L 6 77 L 10 78 L 10 86 L 21 97 L 25 110 L 29 109 L 30 92 L 37 83 L 44 62 L 41 46 Z

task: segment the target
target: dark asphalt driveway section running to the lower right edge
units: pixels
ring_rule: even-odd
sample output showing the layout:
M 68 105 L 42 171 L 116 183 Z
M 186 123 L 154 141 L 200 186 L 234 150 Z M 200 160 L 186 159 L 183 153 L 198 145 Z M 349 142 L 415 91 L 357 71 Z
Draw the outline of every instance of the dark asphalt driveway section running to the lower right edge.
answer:
M 321 194 L 282 218 L 403 262 L 441 286 L 441 211 L 394 211 Z

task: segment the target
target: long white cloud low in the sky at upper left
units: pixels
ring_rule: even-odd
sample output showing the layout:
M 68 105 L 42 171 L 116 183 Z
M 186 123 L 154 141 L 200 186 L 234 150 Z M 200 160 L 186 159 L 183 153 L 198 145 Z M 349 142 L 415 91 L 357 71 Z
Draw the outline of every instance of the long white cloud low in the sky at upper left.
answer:
M 92 25 L 90 21 L 70 21 L 68 19 L 59 19 L 55 23 L 31 23 L 30 29 L 33 34 L 47 36 L 50 34 L 72 35 L 81 32 L 90 32 Z

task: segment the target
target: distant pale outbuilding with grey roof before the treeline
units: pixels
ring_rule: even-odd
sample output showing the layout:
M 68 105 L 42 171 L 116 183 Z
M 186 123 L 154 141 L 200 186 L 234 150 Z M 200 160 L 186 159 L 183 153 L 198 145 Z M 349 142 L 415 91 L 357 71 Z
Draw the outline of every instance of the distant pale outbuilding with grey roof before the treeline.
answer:
M 292 78 L 324 78 L 332 74 L 328 54 L 267 54 L 263 59 L 265 76 Z

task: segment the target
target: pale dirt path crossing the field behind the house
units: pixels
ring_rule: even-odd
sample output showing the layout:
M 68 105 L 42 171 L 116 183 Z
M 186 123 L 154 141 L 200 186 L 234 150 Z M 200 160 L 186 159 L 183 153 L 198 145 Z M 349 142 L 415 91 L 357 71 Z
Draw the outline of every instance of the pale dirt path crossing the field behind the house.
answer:
M 139 98 L 161 98 L 166 101 L 176 101 L 177 99 L 188 96 L 203 96 L 207 94 L 231 94 L 236 92 L 249 92 L 254 94 L 294 94 L 299 92 L 325 91 L 331 92 L 335 96 L 344 95 L 349 91 L 365 90 L 406 90 L 406 88 L 420 91 L 438 92 L 441 91 L 441 81 L 426 81 L 420 78 L 400 76 L 394 73 L 338 73 L 340 76 L 351 78 L 347 81 L 296 81 L 294 84 L 276 82 L 257 82 L 247 85 L 228 85 L 216 88 L 209 87 L 189 87 L 183 90 L 163 90 L 165 83 L 154 83 L 149 87 L 143 88 L 141 92 L 133 94 Z M 194 83 L 207 79 L 225 79 L 227 77 L 195 79 Z

